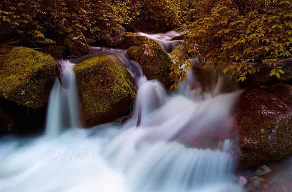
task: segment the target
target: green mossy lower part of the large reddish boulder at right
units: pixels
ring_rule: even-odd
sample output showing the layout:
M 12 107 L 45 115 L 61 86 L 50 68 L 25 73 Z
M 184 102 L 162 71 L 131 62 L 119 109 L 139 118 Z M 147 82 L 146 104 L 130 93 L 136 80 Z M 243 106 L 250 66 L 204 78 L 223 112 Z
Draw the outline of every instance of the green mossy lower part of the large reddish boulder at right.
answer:
M 240 120 L 239 159 L 241 168 L 279 160 L 292 153 L 292 117 L 257 124 L 247 115 Z

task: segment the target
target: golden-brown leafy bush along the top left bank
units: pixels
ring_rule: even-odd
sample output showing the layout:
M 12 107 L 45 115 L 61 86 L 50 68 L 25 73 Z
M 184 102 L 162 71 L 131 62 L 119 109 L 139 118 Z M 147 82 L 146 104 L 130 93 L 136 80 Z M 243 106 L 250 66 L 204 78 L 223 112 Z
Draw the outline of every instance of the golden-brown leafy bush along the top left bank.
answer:
M 81 31 L 87 37 L 109 37 L 138 15 L 135 0 L 4 0 L 0 3 L 0 36 L 20 35 L 47 39 L 45 31 L 67 34 Z

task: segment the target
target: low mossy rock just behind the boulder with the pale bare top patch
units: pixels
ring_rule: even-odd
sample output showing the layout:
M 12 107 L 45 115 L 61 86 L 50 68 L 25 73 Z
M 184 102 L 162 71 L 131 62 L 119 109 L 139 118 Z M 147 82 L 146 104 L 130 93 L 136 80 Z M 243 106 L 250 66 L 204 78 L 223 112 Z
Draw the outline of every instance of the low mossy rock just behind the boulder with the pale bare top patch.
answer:
M 127 32 L 125 34 L 124 46 L 126 49 L 130 48 L 131 46 L 140 46 L 144 44 L 155 44 L 161 47 L 161 45 L 157 41 L 154 41 L 153 39 L 150 39 L 148 37 L 137 35 L 131 32 Z

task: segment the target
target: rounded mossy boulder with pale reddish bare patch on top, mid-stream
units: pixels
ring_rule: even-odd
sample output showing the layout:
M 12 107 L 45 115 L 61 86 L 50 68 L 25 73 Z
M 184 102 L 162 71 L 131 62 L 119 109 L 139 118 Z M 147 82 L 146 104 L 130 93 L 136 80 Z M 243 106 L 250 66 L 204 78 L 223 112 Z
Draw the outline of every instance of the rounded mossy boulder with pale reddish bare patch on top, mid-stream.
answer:
M 158 80 L 167 89 L 170 87 L 171 58 L 164 49 L 155 44 L 144 44 L 130 47 L 127 53 L 131 59 L 136 60 L 142 66 L 148 79 Z

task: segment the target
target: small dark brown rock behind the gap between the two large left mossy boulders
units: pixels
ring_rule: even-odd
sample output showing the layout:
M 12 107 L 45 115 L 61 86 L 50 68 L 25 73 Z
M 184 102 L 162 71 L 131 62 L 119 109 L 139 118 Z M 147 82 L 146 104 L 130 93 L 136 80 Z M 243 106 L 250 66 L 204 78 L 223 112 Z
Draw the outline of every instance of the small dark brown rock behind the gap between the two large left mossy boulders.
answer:
M 60 38 L 59 45 L 65 46 L 68 56 L 82 56 L 90 51 L 90 47 L 86 43 L 86 39 L 81 32 L 67 34 L 64 38 Z

